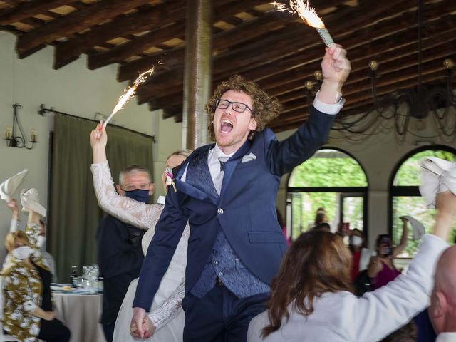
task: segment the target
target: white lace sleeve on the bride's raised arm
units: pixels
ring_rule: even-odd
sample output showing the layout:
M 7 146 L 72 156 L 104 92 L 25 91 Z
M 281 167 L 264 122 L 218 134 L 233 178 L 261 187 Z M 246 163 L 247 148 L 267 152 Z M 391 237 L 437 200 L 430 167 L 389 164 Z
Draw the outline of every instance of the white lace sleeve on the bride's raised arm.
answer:
M 152 222 L 160 217 L 158 204 L 145 204 L 115 192 L 108 160 L 90 166 L 93 174 L 93 187 L 98 204 L 103 211 L 135 227 L 149 229 Z

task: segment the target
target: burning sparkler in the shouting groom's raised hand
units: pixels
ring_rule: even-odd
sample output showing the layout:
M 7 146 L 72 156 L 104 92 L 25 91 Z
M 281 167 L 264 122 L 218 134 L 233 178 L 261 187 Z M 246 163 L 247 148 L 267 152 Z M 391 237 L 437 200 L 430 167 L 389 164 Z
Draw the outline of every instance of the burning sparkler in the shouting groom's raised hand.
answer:
M 278 11 L 288 11 L 291 14 L 297 14 L 307 25 L 316 28 L 316 31 L 326 46 L 329 47 L 334 43 L 333 38 L 331 38 L 329 31 L 325 27 L 325 24 L 323 24 L 323 21 L 316 14 L 315 9 L 311 8 L 309 5 L 309 1 L 290 0 L 289 8 L 277 1 L 274 1 L 272 4 Z

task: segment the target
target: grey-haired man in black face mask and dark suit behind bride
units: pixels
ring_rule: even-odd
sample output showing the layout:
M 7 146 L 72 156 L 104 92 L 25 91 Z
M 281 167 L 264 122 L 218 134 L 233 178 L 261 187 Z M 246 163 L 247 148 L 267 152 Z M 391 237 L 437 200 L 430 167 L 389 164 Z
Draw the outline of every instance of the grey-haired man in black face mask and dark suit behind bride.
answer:
M 120 195 L 147 203 L 153 194 L 150 174 L 140 165 L 125 167 L 119 175 Z M 115 319 L 130 282 L 138 278 L 144 256 L 141 239 L 145 231 L 107 214 L 98 227 L 98 264 L 103 277 L 103 325 L 106 341 L 113 341 Z

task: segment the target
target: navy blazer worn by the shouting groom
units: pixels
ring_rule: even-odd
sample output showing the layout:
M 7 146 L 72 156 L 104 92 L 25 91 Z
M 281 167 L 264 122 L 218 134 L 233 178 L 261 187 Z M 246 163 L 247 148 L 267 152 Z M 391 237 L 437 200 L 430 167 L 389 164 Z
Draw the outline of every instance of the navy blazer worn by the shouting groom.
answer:
M 209 259 L 218 229 L 223 229 L 249 271 L 270 284 L 286 250 L 276 217 L 281 176 L 309 159 L 326 142 L 334 118 L 335 115 L 321 113 L 311 106 L 306 123 L 284 141 L 279 142 L 269 128 L 256 133 L 228 160 L 217 200 L 180 181 L 190 160 L 214 144 L 195 150 L 177 171 L 177 192 L 170 187 L 167 193 L 165 208 L 142 264 L 133 307 L 150 309 L 187 220 L 190 237 L 186 292 L 192 289 Z M 257 159 L 241 162 L 250 153 Z

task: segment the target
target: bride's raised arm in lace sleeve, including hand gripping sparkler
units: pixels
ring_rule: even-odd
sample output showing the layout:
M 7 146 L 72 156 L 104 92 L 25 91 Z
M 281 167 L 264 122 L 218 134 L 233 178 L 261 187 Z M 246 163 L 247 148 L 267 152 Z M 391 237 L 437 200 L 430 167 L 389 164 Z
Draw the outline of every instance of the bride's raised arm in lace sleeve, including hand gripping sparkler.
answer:
M 101 130 L 100 130 L 101 128 Z M 161 206 L 145 204 L 115 191 L 113 177 L 106 159 L 106 143 L 108 135 L 102 125 L 98 125 L 90 133 L 90 145 L 93 150 L 93 164 L 90 166 L 93 174 L 93 187 L 98 204 L 104 212 L 117 217 L 123 222 L 135 227 L 149 229 L 155 225 L 161 214 Z

